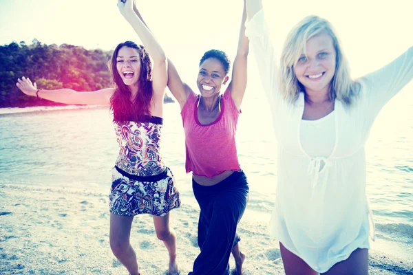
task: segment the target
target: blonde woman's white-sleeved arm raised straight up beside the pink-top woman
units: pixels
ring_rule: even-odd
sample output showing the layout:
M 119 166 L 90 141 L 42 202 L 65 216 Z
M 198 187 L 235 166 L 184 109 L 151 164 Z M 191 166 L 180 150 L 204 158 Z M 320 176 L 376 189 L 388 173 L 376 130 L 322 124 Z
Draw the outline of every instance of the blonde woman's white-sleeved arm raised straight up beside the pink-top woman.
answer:
M 274 111 L 276 98 L 279 96 L 277 87 L 277 60 L 271 43 L 268 28 L 264 20 L 261 0 L 246 0 L 248 25 L 246 36 L 251 43 L 251 49 L 257 61 L 258 72 L 262 86 L 268 98 L 271 111 Z

